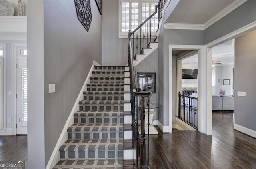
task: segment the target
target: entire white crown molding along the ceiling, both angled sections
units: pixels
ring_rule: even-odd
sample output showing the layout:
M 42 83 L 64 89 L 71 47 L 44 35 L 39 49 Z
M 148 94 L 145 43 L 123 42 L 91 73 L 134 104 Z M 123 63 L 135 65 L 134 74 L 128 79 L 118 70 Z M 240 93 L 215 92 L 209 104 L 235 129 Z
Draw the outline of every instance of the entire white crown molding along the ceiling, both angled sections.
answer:
M 218 14 L 213 16 L 210 20 L 205 22 L 204 24 L 184 24 L 184 23 L 166 23 L 164 24 L 164 29 L 188 29 L 188 30 L 205 30 L 233 10 L 235 10 L 238 6 L 244 4 L 247 0 L 235 0 L 231 4 L 229 4 L 226 8 L 220 11 Z

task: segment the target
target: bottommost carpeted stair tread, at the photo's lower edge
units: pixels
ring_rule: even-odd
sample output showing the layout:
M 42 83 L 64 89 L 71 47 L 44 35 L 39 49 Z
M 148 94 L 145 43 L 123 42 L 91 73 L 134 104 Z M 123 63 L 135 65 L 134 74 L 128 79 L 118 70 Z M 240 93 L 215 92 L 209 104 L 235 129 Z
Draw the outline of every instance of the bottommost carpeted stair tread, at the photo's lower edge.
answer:
M 53 169 L 123 169 L 123 160 L 60 160 Z

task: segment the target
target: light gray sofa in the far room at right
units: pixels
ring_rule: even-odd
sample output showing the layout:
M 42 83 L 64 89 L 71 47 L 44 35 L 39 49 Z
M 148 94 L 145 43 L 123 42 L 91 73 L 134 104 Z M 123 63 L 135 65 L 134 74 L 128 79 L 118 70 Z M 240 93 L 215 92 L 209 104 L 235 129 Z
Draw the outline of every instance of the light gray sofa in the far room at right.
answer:
M 232 95 L 212 95 L 212 110 L 234 110 Z

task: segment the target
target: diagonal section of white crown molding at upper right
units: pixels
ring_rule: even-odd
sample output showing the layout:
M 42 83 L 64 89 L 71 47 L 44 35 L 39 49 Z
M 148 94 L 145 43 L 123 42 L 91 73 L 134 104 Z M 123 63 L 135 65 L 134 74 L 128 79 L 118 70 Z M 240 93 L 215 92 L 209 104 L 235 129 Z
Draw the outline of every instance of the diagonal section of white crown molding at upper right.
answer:
M 229 4 L 226 8 L 224 8 L 222 11 L 220 11 L 218 14 L 216 14 L 214 17 L 212 17 L 210 20 L 204 23 L 204 28 L 208 28 L 233 10 L 235 10 L 238 6 L 242 5 L 247 0 L 235 0 L 231 4 Z

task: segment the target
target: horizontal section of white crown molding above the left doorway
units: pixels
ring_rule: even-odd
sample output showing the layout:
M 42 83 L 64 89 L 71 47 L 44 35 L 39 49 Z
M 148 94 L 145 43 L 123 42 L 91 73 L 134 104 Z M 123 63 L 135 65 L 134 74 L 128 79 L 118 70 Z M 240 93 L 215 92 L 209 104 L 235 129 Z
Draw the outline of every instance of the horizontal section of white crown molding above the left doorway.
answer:
M 190 30 L 204 30 L 204 24 L 178 24 L 166 23 L 164 29 L 190 29 Z

